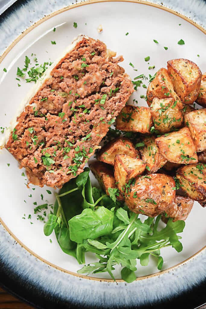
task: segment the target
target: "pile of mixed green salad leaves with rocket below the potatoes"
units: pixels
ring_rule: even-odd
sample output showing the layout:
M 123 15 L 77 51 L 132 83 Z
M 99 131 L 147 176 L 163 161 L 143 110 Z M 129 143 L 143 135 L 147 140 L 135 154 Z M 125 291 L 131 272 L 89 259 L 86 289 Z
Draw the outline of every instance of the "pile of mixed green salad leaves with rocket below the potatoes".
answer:
M 137 259 L 146 266 L 149 256 L 153 256 L 157 268 L 162 269 L 161 248 L 172 246 L 182 251 L 177 234 L 183 231 L 184 221 L 169 219 L 159 230 L 161 215 L 141 222 L 138 214 L 116 200 L 118 192 L 108 191 L 110 197 L 91 186 L 86 167 L 56 194 L 54 213 L 48 215 L 44 225 L 44 234 L 49 236 L 54 230 L 63 252 L 75 257 L 79 264 L 85 264 L 85 252 L 96 254 L 99 262 L 84 265 L 78 273 L 108 272 L 115 280 L 112 271 L 120 264 L 122 279 L 132 282 L 136 279 Z

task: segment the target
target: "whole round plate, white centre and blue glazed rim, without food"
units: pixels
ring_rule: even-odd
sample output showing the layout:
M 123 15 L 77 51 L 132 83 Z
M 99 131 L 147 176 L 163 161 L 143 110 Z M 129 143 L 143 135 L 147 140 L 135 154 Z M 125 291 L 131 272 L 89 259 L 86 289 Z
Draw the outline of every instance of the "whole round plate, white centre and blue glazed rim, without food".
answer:
M 73 27 L 74 22 L 77 28 Z M 99 24 L 103 27 L 101 33 L 97 31 Z M 206 32 L 187 18 L 146 2 L 94 1 L 74 5 L 28 28 L 3 54 L 0 63 L 2 127 L 9 126 L 20 102 L 33 86 L 15 79 L 17 67 L 24 66 L 25 56 L 34 64 L 34 58 L 39 64 L 50 63 L 80 33 L 102 40 L 117 55 L 123 54 L 122 66 L 132 78 L 140 74 L 153 75 L 160 67 L 166 67 L 167 60 L 180 57 L 194 61 L 202 72 L 206 71 Z M 184 45 L 178 44 L 181 39 Z M 56 44 L 51 44 L 52 41 Z M 149 64 L 144 60 L 147 56 L 150 56 Z M 155 67 L 149 70 L 149 66 Z M 7 72 L 3 71 L 4 68 Z M 129 102 L 136 99 L 139 105 L 146 106 L 141 95 L 145 95 L 142 87 Z M 54 203 L 54 195 L 46 191 L 52 191 L 51 188 L 33 185 L 27 188 L 25 171 L 19 170 L 17 162 L 6 150 L 1 152 L 0 169 L 1 278 L 2 283 L 21 297 L 41 307 L 48 307 L 51 298 L 62 307 L 66 303 L 79 307 L 141 307 L 149 303 L 161 306 L 168 298 L 175 302 L 179 293 L 183 296 L 189 291 L 194 292 L 197 285 L 204 282 L 199 286 L 201 291 L 206 277 L 203 271 L 206 264 L 206 212 L 198 203 L 195 203 L 186 222 L 183 251 L 178 254 L 174 249 L 163 250 L 165 262 L 162 272 L 157 273 L 152 260 L 148 267 L 138 265 L 138 280 L 128 285 L 121 280 L 113 282 L 103 274 L 96 277 L 77 275 L 80 267 L 76 260 L 61 251 L 54 235 L 50 238 L 44 236 L 44 214 L 34 214 L 36 204 Z M 86 263 L 92 261 L 94 257 L 88 254 Z M 117 279 L 120 277 L 119 269 L 115 275 Z M 13 284 L 17 283 L 18 287 L 14 288 Z M 19 289 L 21 285 L 22 290 Z M 181 299 L 178 301 L 181 302 Z M 204 301 L 201 295 L 196 302 L 189 301 L 187 308 Z

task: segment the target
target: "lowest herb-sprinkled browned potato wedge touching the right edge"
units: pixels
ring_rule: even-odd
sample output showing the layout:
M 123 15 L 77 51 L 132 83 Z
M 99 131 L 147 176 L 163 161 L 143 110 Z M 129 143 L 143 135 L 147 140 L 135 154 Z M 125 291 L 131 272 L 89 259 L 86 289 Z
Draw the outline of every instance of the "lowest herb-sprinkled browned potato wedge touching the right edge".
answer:
M 202 163 L 180 167 L 176 174 L 181 189 L 195 201 L 206 200 L 206 167 Z

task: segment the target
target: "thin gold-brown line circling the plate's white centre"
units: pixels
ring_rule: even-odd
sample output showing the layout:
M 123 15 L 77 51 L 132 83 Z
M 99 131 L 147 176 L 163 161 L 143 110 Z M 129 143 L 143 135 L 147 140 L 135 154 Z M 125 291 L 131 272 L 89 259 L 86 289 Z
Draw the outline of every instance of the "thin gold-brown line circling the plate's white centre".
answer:
M 138 4 L 145 4 L 148 6 L 153 6 L 156 7 L 158 9 L 161 9 L 163 11 L 167 11 L 171 14 L 174 14 L 176 16 L 179 16 L 183 19 L 185 19 L 187 22 L 191 23 L 193 26 L 195 26 L 196 28 L 198 28 L 200 31 L 202 31 L 204 34 L 206 34 L 206 30 L 201 27 L 200 25 L 198 25 L 197 23 L 195 23 L 194 21 L 192 21 L 191 19 L 189 19 L 188 17 L 175 12 L 167 7 L 161 6 L 159 4 L 156 3 L 151 3 L 151 2 L 146 2 L 146 1 L 141 1 L 141 0 L 89 0 L 89 1 L 85 1 L 85 2 L 81 2 L 78 4 L 73 4 L 67 7 L 64 7 L 58 11 L 55 11 L 45 17 L 43 17 L 42 19 L 40 19 L 39 21 L 37 21 L 35 24 L 33 24 L 32 26 L 30 26 L 29 28 L 27 28 L 23 33 L 21 33 L 12 43 L 11 45 L 9 45 L 9 47 L 7 47 L 7 49 L 3 52 L 2 56 L 0 57 L 0 63 L 2 62 L 2 60 L 6 57 L 6 55 L 10 52 L 10 50 L 30 31 L 32 31 L 34 28 L 36 28 L 37 26 L 39 26 L 41 23 L 43 23 L 44 21 L 46 21 L 47 19 L 52 18 L 53 16 L 56 16 L 58 14 L 61 14 L 65 11 L 74 9 L 76 7 L 79 6 L 84 6 L 84 5 L 88 5 L 88 4 L 94 4 L 94 3 L 100 3 L 100 2 L 132 2 L 132 3 L 138 3 Z M 24 249 L 26 249 L 30 254 L 32 254 L 33 256 L 35 256 L 36 258 L 38 258 L 39 260 L 41 260 L 42 262 L 46 263 L 49 266 L 52 266 L 55 269 L 61 270 L 64 273 L 69 273 L 70 275 L 76 276 L 76 277 L 81 277 L 81 278 L 85 278 L 85 279 L 89 279 L 89 280 L 95 280 L 95 281 L 106 281 L 106 282 L 114 282 L 112 279 L 105 279 L 105 278 L 95 278 L 95 277 L 90 277 L 90 276 L 84 276 L 84 275 L 79 275 L 78 273 L 73 273 L 69 270 L 63 269 L 59 266 L 56 266 L 50 262 L 48 262 L 47 260 L 43 259 L 41 256 L 37 255 L 35 252 L 33 252 L 32 250 L 30 250 L 27 246 L 25 246 L 12 232 L 11 230 L 8 228 L 8 226 L 2 221 L 2 219 L 0 218 L 0 223 L 2 224 L 2 226 L 6 229 L 6 231 L 15 239 L 15 241 L 17 243 L 20 244 L 21 247 L 23 247 Z M 204 249 L 206 249 L 206 246 L 204 246 L 202 249 L 200 249 L 200 251 L 196 252 L 195 254 L 193 254 L 192 256 L 190 256 L 188 259 L 184 260 L 183 262 L 180 262 L 177 265 L 174 265 L 168 269 L 165 269 L 161 272 L 158 273 L 153 273 L 151 275 L 148 276 L 142 276 L 142 277 L 137 277 L 136 280 L 142 280 L 142 279 L 146 279 L 146 278 L 150 278 L 150 277 L 155 277 L 155 276 L 159 276 L 163 273 L 167 273 L 172 269 L 175 269 L 177 267 L 179 267 L 180 265 L 184 265 L 185 263 L 187 263 L 189 260 L 195 258 L 197 255 L 199 255 L 201 252 L 204 251 Z M 116 279 L 116 282 L 123 282 L 122 279 Z

